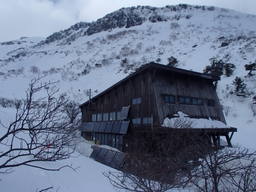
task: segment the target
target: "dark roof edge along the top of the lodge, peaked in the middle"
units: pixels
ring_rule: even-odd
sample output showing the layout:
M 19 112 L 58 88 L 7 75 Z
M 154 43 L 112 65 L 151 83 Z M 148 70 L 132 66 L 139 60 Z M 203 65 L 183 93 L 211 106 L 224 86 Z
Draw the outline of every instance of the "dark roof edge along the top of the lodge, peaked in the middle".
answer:
M 208 79 L 209 81 L 212 81 L 212 82 L 220 81 L 220 77 L 217 77 L 217 76 L 211 76 L 211 75 L 208 75 L 208 74 L 202 74 L 202 73 L 194 72 L 194 71 L 191 71 L 191 70 L 185 70 L 185 69 L 182 69 L 182 68 L 170 67 L 170 66 L 167 66 L 167 65 L 162 65 L 162 64 L 159 64 L 159 63 L 150 62 L 150 63 L 146 64 L 145 67 L 141 67 L 139 70 L 137 70 L 133 74 L 125 77 L 124 79 L 122 79 L 118 83 L 113 84 L 113 86 L 109 87 L 104 92 L 99 93 L 99 95 L 96 95 L 95 97 L 93 97 L 93 99 L 96 99 L 97 97 L 100 97 L 101 95 L 104 95 L 104 93 L 109 92 L 109 90 L 112 90 L 113 88 L 115 88 L 115 86 L 118 86 L 118 85 L 124 83 L 125 81 L 131 79 L 132 77 L 136 76 L 137 74 L 141 74 L 141 72 L 143 72 L 145 70 L 154 70 L 154 69 L 156 69 L 157 71 L 164 72 L 164 73 L 175 72 L 175 73 L 178 73 L 178 74 L 185 74 L 185 75 L 192 76 L 192 77 L 201 77 L 201 78 Z M 83 107 L 88 102 L 89 101 L 84 102 L 83 104 L 81 104 L 79 106 L 79 108 Z

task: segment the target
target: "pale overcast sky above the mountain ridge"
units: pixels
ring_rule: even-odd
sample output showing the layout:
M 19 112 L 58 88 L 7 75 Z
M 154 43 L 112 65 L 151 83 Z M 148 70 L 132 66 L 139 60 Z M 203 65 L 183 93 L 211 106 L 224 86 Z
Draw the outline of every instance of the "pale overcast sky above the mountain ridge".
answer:
M 256 0 L 0 0 L 0 42 L 47 37 L 77 22 L 92 22 L 122 7 L 195 4 L 256 15 Z

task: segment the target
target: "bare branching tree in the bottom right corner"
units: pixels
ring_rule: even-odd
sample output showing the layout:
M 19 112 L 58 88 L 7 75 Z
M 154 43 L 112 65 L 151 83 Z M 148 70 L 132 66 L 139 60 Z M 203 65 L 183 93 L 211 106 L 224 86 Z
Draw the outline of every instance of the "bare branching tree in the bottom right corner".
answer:
M 247 149 L 212 148 L 202 156 L 200 165 L 189 172 L 195 191 L 255 191 L 256 152 Z

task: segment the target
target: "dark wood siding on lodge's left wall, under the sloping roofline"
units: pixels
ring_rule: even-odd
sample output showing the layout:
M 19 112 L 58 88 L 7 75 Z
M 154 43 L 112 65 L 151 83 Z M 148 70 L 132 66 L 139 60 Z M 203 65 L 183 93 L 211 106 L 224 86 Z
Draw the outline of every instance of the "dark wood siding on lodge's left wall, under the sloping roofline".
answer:
M 141 104 L 132 105 L 132 99 L 138 97 L 141 97 Z M 91 122 L 92 114 L 121 111 L 122 107 L 130 106 L 128 118 L 153 115 L 154 124 L 159 125 L 150 71 L 145 71 L 115 86 L 92 102 L 95 104 L 91 104 L 93 106 L 91 110 L 88 104 L 82 108 L 83 122 Z

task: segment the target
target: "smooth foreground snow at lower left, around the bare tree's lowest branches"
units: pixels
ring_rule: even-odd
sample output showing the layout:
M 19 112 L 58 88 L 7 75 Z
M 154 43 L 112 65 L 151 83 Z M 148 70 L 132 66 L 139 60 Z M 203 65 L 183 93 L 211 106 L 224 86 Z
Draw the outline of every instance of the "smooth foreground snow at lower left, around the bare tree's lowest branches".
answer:
M 15 115 L 13 108 L 0 108 L 1 123 L 8 125 L 12 122 Z M 0 134 L 3 133 L 4 127 L 0 125 Z M 0 146 L 0 150 L 1 150 Z M 76 172 L 70 168 L 63 168 L 60 171 L 51 172 L 31 168 L 28 166 L 19 166 L 13 168 L 15 172 L 10 174 L 0 174 L 0 191 L 40 191 L 53 186 L 51 191 L 115 191 L 109 180 L 102 175 L 102 172 L 115 172 L 113 168 L 97 163 L 93 159 L 88 158 L 92 153 L 91 144 L 87 141 L 82 142 L 77 150 L 82 152 L 74 152 L 69 159 L 57 162 L 37 162 L 36 166 L 45 168 L 60 168 L 61 166 L 71 165 Z

